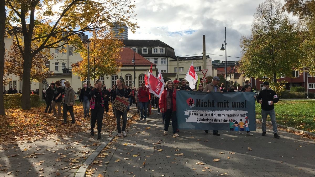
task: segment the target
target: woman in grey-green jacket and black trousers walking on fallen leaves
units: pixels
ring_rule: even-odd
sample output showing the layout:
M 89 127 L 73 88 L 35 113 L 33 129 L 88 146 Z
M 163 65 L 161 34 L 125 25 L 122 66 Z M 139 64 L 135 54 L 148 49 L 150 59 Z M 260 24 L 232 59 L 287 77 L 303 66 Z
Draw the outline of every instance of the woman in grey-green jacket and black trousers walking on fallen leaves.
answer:
M 74 118 L 74 114 L 73 114 L 73 105 L 75 104 L 75 100 L 74 100 L 74 90 L 73 88 L 70 86 L 70 82 L 69 81 L 65 81 L 65 96 L 62 99 L 63 102 L 63 123 L 67 123 L 67 114 L 68 111 L 71 115 L 71 123 L 76 123 L 76 120 Z

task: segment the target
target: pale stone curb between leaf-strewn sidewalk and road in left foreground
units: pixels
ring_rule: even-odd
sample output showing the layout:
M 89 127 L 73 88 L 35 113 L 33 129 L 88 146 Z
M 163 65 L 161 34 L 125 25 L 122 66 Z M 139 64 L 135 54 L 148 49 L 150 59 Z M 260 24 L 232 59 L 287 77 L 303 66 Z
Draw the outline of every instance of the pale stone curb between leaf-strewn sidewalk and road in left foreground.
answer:
M 115 131 L 113 134 L 111 134 L 84 162 L 83 165 L 78 169 L 75 177 L 85 177 L 86 170 L 88 169 L 89 165 L 93 163 L 95 158 L 99 155 L 100 151 L 104 149 L 104 147 L 107 146 L 109 142 L 111 142 L 114 137 L 118 134 L 118 131 Z

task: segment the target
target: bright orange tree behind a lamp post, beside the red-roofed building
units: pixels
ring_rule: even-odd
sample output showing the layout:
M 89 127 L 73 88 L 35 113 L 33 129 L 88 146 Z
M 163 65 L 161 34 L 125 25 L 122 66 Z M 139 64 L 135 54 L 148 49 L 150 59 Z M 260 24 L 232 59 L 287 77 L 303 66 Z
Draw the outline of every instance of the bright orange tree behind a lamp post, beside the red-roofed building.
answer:
M 100 76 L 105 74 L 112 75 L 119 72 L 122 64 L 119 62 L 120 50 L 123 47 L 121 40 L 113 38 L 110 32 L 93 32 L 90 38 L 90 77 L 95 81 Z M 88 49 L 85 46 L 79 53 L 83 58 L 82 61 L 72 65 L 72 72 L 75 75 L 81 76 L 82 79 L 87 79 L 88 76 Z

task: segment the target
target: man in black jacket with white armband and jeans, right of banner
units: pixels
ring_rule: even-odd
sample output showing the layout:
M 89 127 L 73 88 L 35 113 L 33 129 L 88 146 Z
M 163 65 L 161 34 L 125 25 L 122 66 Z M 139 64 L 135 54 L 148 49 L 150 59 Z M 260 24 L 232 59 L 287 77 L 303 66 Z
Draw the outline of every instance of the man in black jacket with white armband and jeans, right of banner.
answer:
M 278 126 L 276 122 L 276 113 L 274 110 L 274 103 L 279 101 L 279 98 L 275 91 L 269 88 L 269 83 L 262 83 L 262 90 L 257 96 L 257 102 L 261 104 L 261 126 L 262 136 L 266 136 L 266 119 L 269 114 L 272 122 L 273 136 L 280 138 L 278 135 Z

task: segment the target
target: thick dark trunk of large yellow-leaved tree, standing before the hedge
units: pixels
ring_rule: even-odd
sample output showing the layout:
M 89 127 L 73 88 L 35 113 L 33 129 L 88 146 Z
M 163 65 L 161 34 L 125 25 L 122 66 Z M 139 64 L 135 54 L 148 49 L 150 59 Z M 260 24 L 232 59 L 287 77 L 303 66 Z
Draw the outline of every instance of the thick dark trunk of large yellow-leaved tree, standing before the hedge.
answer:
M 30 37 L 24 38 L 25 48 L 24 48 L 24 62 L 23 62 L 23 85 L 22 85 L 22 109 L 31 109 L 31 67 L 32 67 L 32 56 L 31 56 L 31 39 Z

